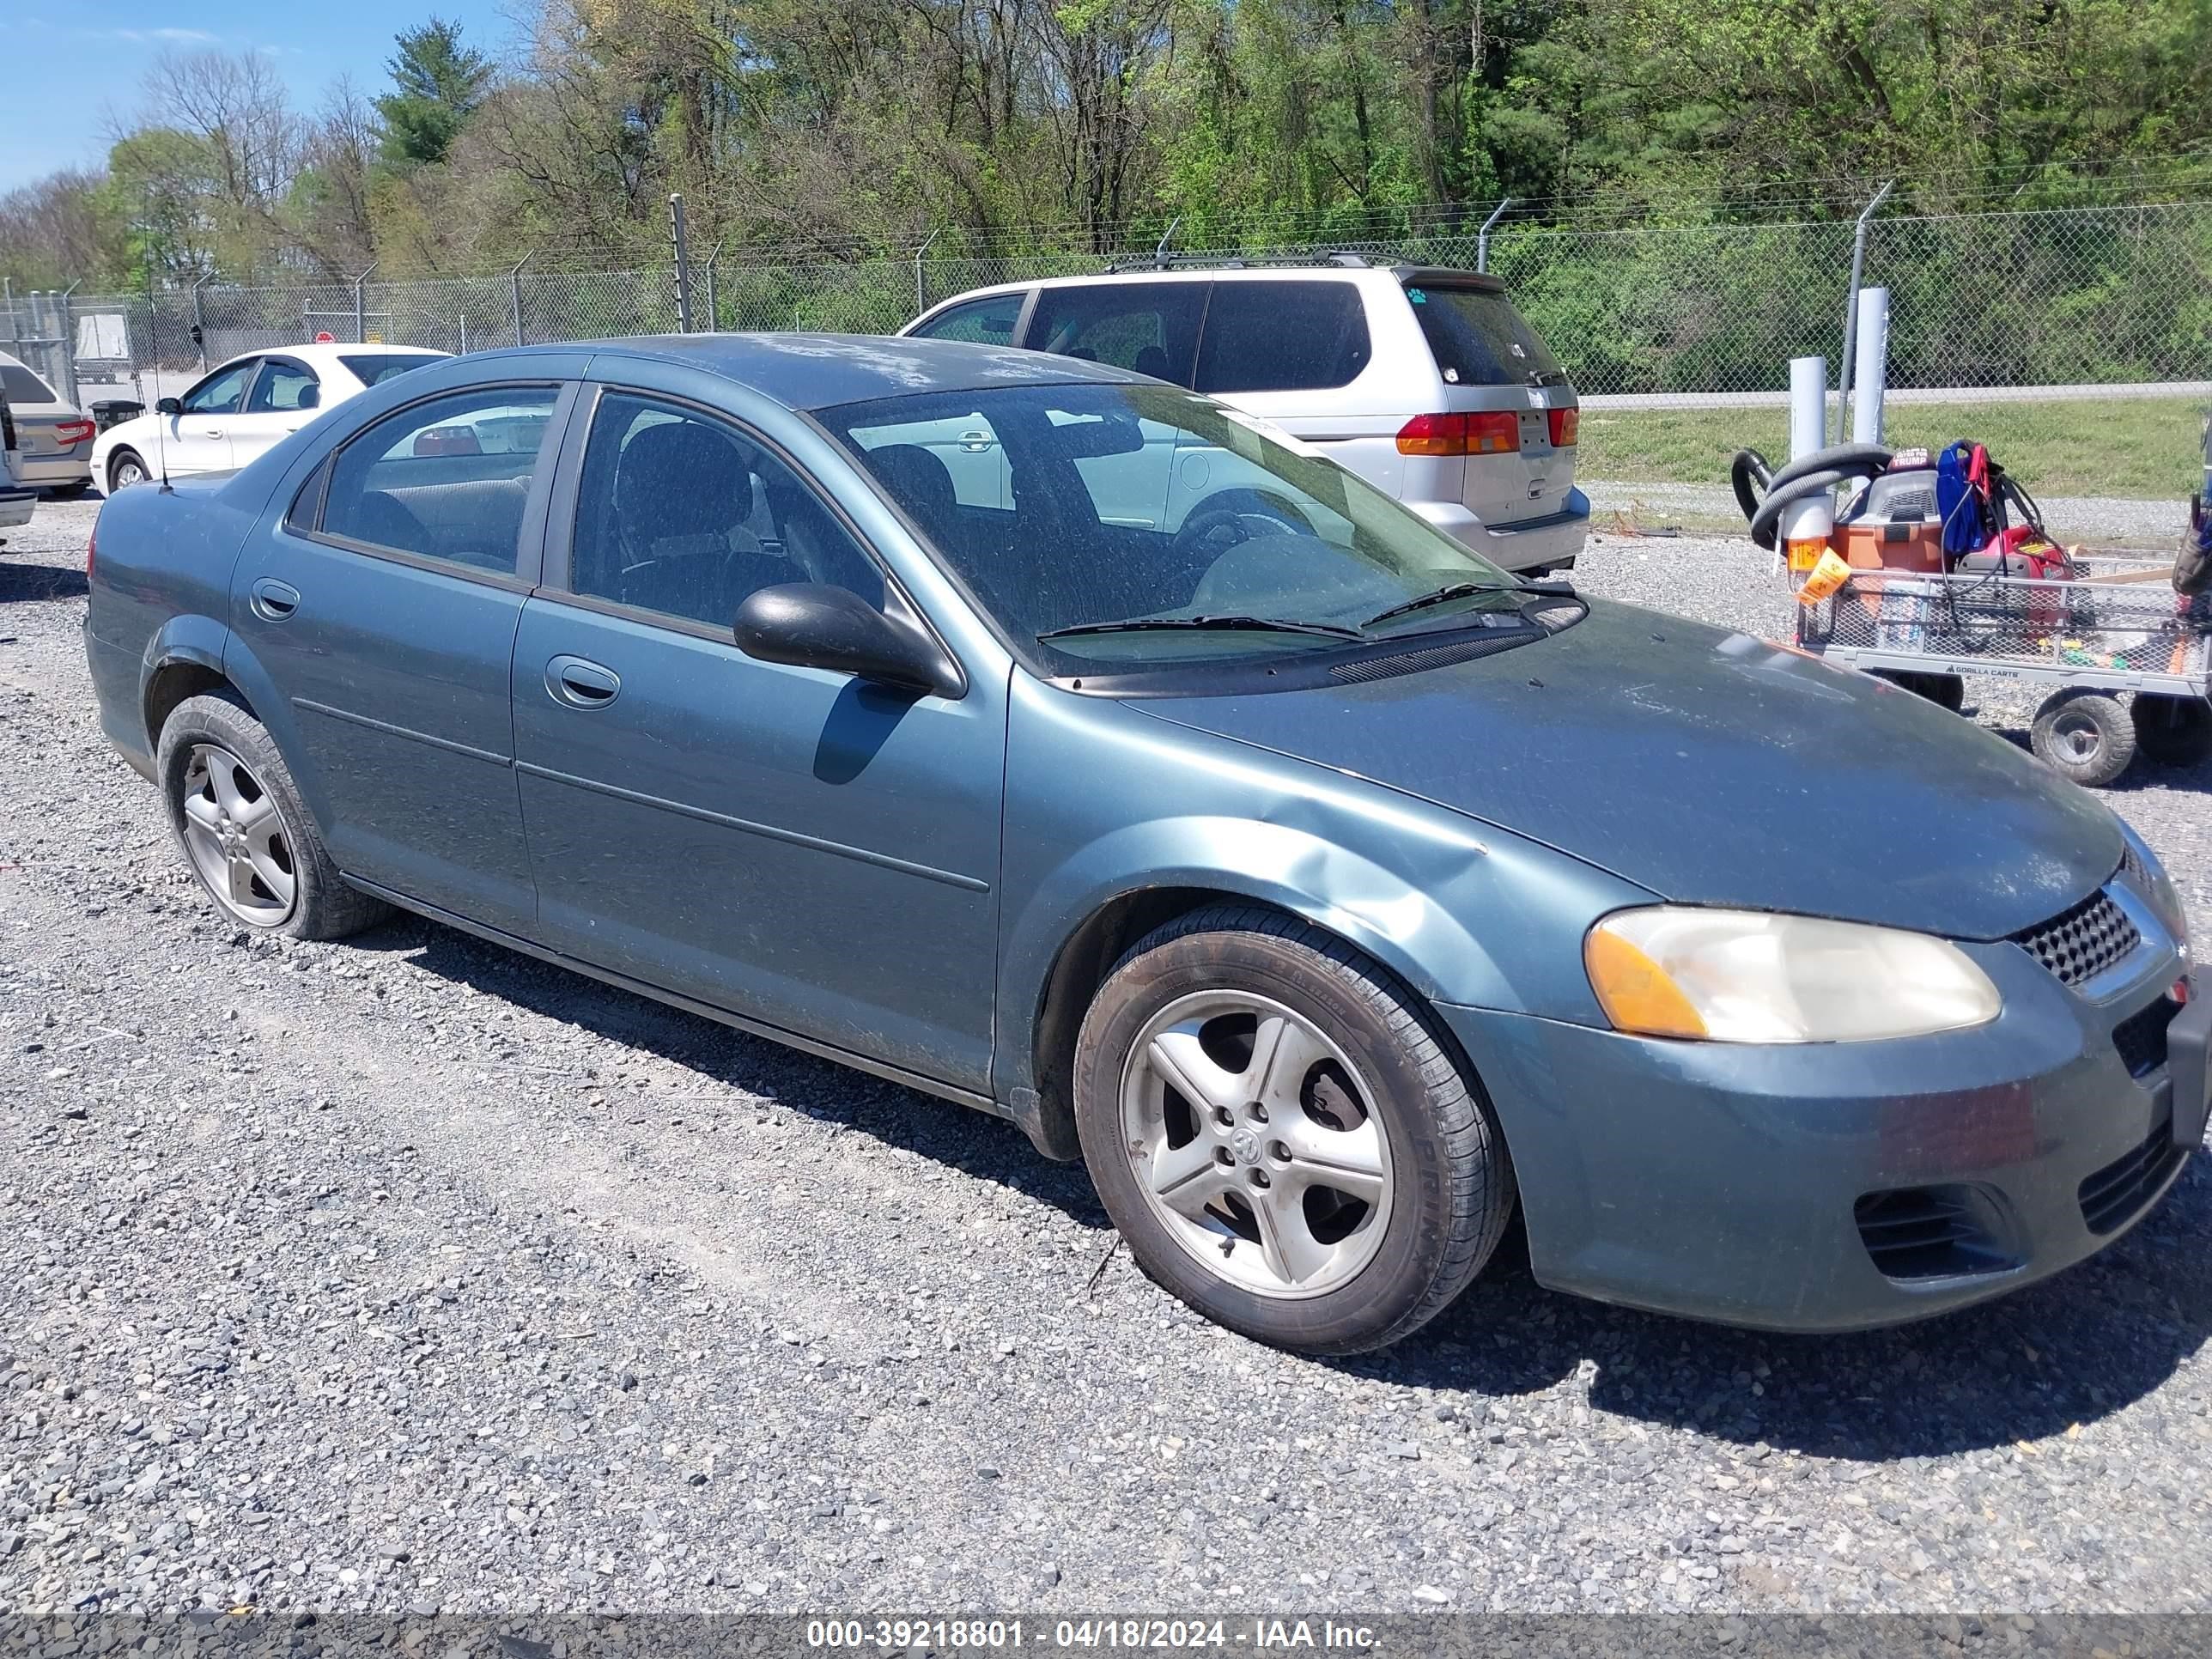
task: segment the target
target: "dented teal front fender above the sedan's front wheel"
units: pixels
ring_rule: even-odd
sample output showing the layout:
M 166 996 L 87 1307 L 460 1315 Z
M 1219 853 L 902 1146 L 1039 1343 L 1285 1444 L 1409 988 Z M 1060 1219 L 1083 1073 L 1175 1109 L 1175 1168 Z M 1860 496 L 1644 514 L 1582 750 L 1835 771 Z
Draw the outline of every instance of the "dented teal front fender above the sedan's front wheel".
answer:
M 1000 1097 L 1037 1088 L 1062 951 L 1146 889 L 1250 898 L 1431 1002 L 1601 1022 L 1582 936 L 1650 894 L 1365 779 L 1015 675 L 998 975 Z

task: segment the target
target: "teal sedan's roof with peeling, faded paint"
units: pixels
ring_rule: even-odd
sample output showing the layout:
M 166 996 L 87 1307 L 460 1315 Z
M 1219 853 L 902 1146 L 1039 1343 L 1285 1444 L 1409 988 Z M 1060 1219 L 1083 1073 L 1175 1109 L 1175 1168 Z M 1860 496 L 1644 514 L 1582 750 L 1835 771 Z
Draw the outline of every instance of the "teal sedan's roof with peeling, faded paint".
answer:
M 1110 363 L 1018 352 L 1009 345 L 909 341 L 896 334 L 641 334 L 484 352 L 487 361 L 531 356 L 630 356 L 688 363 L 750 387 L 785 409 L 832 409 L 920 392 L 984 392 L 1024 385 L 1152 385 Z

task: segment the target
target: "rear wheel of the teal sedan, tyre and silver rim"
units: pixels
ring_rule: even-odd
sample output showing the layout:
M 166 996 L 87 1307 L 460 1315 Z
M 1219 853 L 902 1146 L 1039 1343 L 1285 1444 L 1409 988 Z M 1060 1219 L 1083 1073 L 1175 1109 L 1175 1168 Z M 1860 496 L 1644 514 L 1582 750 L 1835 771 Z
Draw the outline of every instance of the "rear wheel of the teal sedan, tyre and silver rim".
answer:
M 385 914 L 338 876 L 276 743 L 239 701 L 208 692 L 177 703 L 155 774 L 186 863 L 230 920 L 345 938 Z

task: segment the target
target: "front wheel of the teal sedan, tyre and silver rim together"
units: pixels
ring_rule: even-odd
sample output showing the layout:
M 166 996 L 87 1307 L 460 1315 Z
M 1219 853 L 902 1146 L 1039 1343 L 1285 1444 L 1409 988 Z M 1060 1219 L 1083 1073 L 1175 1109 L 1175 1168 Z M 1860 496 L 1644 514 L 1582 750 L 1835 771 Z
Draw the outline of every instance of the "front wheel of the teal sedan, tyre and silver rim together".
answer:
M 1307 1354 L 1418 1329 L 1513 1208 L 1504 1135 L 1433 1018 L 1259 907 L 1194 911 L 1115 964 L 1077 1037 L 1075 1121 L 1137 1265 Z

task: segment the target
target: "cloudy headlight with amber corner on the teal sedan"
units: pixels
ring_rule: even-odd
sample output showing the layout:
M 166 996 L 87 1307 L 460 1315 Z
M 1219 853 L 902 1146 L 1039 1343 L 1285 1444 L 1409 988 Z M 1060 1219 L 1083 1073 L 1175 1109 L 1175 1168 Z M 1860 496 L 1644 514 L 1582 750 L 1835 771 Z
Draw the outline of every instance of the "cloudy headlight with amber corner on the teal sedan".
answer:
M 1588 931 L 1590 989 L 1619 1031 L 1708 1042 L 1867 1042 L 1997 1018 L 1949 940 L 1893 927 L 1652 905 Z

